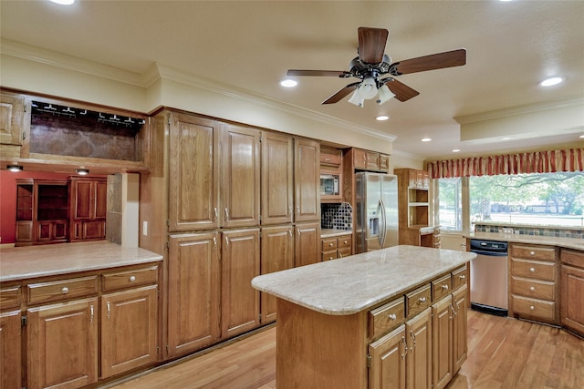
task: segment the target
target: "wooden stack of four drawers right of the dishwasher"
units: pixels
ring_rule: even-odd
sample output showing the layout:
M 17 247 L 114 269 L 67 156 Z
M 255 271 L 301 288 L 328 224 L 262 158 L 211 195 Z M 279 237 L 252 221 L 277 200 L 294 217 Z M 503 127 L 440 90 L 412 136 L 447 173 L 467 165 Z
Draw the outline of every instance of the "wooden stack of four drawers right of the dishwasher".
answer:
M 554 246 L 511 243 L 509 316 L 558 323 L 558 264 Z

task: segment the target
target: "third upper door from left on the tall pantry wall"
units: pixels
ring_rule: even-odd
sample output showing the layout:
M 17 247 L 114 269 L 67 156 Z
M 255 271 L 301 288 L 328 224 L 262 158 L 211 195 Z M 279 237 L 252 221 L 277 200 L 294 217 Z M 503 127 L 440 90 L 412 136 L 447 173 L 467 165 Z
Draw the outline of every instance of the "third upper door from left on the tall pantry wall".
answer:
M 292 138 L 264 132 L 262 136 L 262 225 L 292 221 L 294 192 Z

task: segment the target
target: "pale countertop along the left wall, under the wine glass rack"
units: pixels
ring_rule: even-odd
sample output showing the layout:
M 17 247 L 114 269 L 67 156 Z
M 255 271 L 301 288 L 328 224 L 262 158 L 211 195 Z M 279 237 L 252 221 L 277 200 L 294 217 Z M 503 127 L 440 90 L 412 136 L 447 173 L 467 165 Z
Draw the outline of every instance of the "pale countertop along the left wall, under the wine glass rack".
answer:
M 162 255 L 110 241 L 15 247 L 0 251 L 0 282 L 162 261 Z

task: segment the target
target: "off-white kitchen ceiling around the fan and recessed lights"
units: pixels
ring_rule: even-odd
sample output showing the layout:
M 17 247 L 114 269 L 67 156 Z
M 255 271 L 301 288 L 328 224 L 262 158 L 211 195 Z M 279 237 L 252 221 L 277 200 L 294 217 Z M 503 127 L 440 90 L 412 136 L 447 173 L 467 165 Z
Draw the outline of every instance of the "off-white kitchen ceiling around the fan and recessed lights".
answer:
M 553 107 L 584 97 L 584 1 L 48 1 L 0 3 L 3 40 L 145 74 L 154 63 L 174 67 L 234 92 L 266 97 L 397 137 L 394 152 L 425 159 L 579 147 L 584 133 L 493 142 L 461 142 L 454 118 L 509 108 Z M 321 105 L 355 78 L 299 77 L 289 68 L 349 70 L 357 28 L 390 30 L 392 61 L 464 47 L 467 63 L 403 75 L 420 92 L 406 102 L 355 107 L 348 97 Z M 548 76 L 565 82 L 544 89 Z M 377 122 L 377 115 L 391 117 Z M 584 112 L 582 113 L 584 117 Z M 584 120 L 583 120 L 584 122 Z M 422 143 L 421 138 L 433 138 Z

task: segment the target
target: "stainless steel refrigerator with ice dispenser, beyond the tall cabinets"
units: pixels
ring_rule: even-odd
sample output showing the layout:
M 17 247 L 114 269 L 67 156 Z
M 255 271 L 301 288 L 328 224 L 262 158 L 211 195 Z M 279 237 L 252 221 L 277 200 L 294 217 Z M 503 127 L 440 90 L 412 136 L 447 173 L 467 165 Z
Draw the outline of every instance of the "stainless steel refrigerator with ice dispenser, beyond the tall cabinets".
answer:
M 392 174 L 355 174 L 355 253 L 398 244 L 398 178 Z

